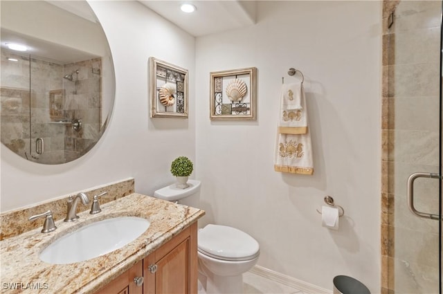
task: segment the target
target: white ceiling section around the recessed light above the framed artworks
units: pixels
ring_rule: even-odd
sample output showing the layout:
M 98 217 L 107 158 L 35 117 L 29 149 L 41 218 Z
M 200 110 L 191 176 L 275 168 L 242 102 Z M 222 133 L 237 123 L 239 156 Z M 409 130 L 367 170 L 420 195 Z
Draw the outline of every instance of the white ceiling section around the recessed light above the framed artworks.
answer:
M 255 24 L 257 1 L 186 1 L 197 8 L 192 13 L 180 10 L 185 1 L 138 1 L 195 37 Z

